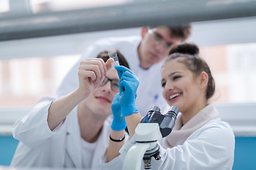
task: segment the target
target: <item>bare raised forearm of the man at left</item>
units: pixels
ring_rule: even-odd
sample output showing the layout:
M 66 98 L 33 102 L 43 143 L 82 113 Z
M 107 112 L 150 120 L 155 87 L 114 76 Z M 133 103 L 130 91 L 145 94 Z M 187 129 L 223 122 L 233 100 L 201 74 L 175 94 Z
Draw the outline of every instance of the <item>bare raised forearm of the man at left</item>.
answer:
M 86 96 L 82 96 L 78 89 L 70 94 L 58 98 L 51 103 L 48 111 L 48 126 L 50 130 L 54 130 L 66 116 L 77 106 Z

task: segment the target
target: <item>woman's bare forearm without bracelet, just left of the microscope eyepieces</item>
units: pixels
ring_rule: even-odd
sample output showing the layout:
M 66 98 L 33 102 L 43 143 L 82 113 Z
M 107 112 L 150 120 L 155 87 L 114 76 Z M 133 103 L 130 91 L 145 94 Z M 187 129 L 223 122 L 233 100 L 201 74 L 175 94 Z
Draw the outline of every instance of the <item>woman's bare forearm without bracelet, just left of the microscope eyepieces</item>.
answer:
M 139 123 L 142 121 L 142 115 L 140 115 L 140 113 L 133 113 L 132 115 L 127 115 L 125 116 L 125 121 L 127 123 L 129 136 L 132 138 L 135 133 L 135 129 L 137 128 L 137 125 L 139 125 Z

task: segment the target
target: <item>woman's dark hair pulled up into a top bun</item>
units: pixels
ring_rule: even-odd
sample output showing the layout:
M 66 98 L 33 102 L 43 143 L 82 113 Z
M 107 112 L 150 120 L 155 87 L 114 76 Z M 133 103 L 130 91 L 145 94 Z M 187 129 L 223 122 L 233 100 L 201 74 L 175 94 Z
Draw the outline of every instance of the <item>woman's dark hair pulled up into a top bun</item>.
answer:
M 185 64 L 186 67 L 191 70 L 191 72 L 193 72 L 195 76 L 198 76 L 199 74 L 201 74 L 201 72 L 206 72 L 208 74 L 206 99 L 208 99 L 214 94 L 215 81 L 210 72 L 208 64 L 201 57 L 199 57 L 198 54 L 199 48 L 197 45 L 184 42 L 171 47 L 169 57 L 166 62 L 174 60 L 176 58 L 181 58 L 181 60 L 178 60 L 178 62 L 182 62 L 183 64 Z

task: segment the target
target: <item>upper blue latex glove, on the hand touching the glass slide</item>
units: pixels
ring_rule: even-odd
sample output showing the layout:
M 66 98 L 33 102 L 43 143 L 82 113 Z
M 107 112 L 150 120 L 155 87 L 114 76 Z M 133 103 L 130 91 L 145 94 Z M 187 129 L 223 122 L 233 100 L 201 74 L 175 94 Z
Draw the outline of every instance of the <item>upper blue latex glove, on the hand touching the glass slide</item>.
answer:
M 135 104 L 137 89 L 139 86 L 139 78 L 127 67 L 116 66 L 119 76 L 119 103 L 121 106 L 122 116 L 138 113 L 139 109 Z

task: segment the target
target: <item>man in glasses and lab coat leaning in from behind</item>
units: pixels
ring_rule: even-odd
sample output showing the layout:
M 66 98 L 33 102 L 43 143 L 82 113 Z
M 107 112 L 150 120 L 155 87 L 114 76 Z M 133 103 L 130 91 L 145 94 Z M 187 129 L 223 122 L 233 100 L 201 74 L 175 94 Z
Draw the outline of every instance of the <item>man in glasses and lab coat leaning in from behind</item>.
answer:
M 191 24 L 182 24 L 176 27 L 143 27 L 140 36 L 97 40 L 87 47 L 80 61 L 94 57 L 99 51 L 108 47 L 116 47 L 127 59 L 132 72 L 139 77 L 136 104 L 139 112 L 144 116 L 152 106 L 159 106 L 161 111 L 168 109 L 165 108 L 168 105 L 162 96 L 161 66 L 163 60 L 168 57 L 171 45 L 185 41 L 190 34 Z M 74 75 L 80 61 L 63 80 L 58 89 L 60 96 L 77 88 L 78 84 Z

